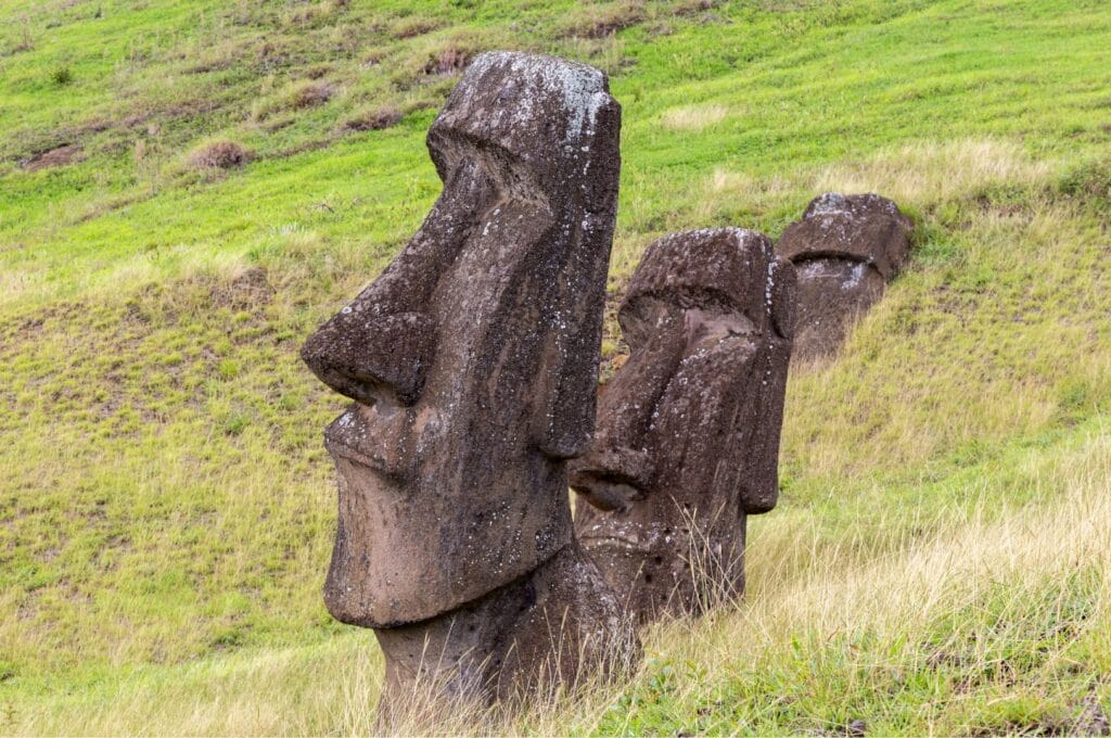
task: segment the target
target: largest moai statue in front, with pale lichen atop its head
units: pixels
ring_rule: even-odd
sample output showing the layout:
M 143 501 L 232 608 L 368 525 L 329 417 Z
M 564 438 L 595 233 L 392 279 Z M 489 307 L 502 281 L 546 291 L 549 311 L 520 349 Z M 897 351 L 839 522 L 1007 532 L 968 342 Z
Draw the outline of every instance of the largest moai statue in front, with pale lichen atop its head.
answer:
M 382 715 L 429 689 L 491 704 L 633 648 L 572 535 L 565 469 L 594 425 L 620 170 L 608 87 L 561 59 L 477 58 L 428 133 L 443 193 L 301 351 L 354 400 L 324 431 L 324 601 L 374 629 Z

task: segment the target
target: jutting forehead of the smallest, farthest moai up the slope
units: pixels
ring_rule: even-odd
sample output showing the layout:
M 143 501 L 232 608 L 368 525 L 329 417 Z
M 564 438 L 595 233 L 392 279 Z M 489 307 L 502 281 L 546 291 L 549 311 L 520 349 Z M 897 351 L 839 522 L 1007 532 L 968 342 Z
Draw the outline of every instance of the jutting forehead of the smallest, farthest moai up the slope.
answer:
M 825 192 L 783 231 L 777 250 L 794 263 L 823 258 L 865 263 L 890 280 L 907 258 L 911 228 L 887 198 Z

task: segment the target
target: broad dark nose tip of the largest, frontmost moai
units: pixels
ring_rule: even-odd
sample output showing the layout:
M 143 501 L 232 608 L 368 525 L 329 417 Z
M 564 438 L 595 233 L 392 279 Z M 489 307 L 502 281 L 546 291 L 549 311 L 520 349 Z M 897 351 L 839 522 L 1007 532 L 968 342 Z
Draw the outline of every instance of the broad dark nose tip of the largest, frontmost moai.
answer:
M 412 405 L 436 349 L 436 325 L 420 312 L 370 315 L 356 302 L 309 337 L 301 359 L 333 390 L 363 405 L 389 397 Z

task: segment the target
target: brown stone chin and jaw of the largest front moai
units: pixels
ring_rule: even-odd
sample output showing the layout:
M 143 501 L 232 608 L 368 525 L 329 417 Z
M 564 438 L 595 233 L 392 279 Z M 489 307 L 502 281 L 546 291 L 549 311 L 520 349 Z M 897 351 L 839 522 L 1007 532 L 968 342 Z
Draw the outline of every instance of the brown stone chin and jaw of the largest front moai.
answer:
M 342 622 L 392 628 L 428 620 L 513 581 L 571 541 L 558 465 L 540 465 L 546 472 L 519 481 L 518 497 L 533 485 L 547 490 L 533 498 L 536 508 L 510 503 L 514 490 L 467 507 L 451 503 L 457 490 L 427 493 L 447 489 L 434 470 L 400 477 L 383 472 L 378 459 L 367 463 L 347 447 L 329 448 L 339 523 L 324 602 Z

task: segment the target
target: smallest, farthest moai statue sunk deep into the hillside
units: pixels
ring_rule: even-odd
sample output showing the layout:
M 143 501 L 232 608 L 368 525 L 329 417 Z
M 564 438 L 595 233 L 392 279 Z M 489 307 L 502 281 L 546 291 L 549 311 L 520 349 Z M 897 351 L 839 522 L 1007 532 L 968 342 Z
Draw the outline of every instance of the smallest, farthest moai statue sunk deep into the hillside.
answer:
M 835 353 L 852 322 L 883 296 L 910 249 L 912 225 L 878 195 L 814 198 L 775 247 L 799 277 L 797 357 Z

